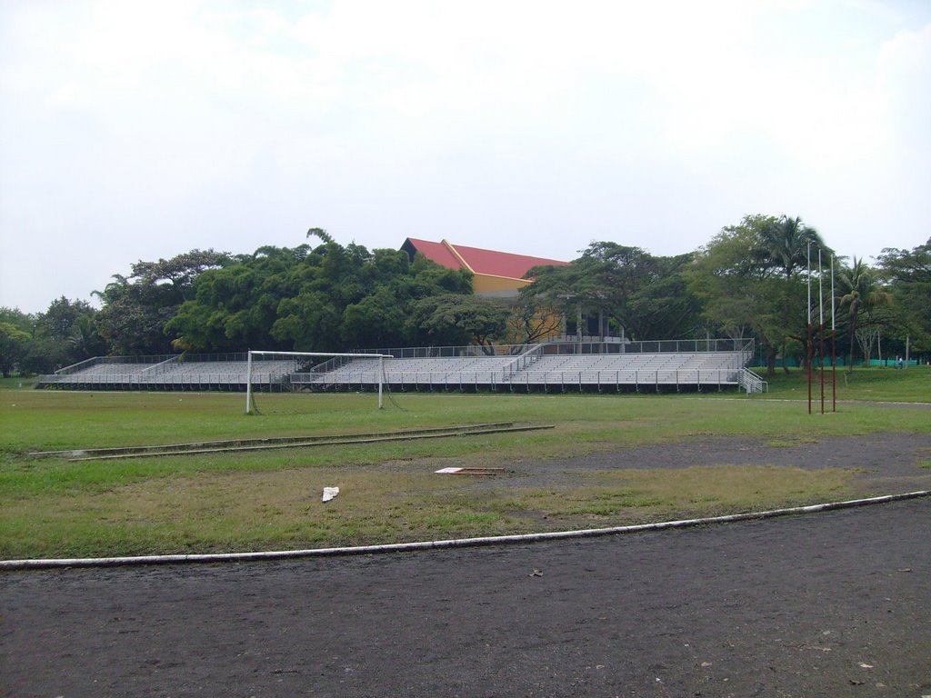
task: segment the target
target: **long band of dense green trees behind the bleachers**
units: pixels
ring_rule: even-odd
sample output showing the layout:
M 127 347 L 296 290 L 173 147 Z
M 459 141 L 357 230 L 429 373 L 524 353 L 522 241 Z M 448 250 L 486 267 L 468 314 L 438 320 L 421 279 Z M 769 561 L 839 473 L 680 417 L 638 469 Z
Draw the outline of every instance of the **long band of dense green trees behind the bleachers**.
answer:
M 0 370 L 28 375 L 92 356 L 256 347 L 490 348 L 561 330 L 643 341 L 753 337 L 772 375 L 780 356 L 784 366 L 809 356 L 809 255 L 813 354 L 824 339 L 850 365 L 859 356 L 931 355 L 931 240 L 887 248 L 875 267 L 838 258 L 831 274 L 833 253 L 801 219 L 747 216 L 704 248 L 671 257 L 593 242 L 568 266 L 531 270 L 533 283 L 508 303 L 473 295 L 468 273 L 420 256 L 342 246 L 317 228 L 307 236 L 316 247 L 194 249 L 137 262 L 95 294 L 101 309 L 63 297 L 37 315 L 0 308 Z

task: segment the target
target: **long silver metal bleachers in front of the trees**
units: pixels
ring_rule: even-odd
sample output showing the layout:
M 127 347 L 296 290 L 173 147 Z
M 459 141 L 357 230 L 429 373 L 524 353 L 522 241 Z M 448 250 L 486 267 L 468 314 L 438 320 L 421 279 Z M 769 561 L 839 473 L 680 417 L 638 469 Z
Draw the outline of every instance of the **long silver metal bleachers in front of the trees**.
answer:
M 753 342 L 547 342 L 487 348 L 379 349 L 383 383 L 399 391 L 627 392 L 740 388 L 760 392 L 765 383 L 745 369 Z M 379 362 L 338 358 L 313 368 L 280 357 L 257 361 L 253 389 L 363 391 L 379 383 Z M 73 390 L 245 391 L 246 355 L 155 356 L 91 359 L 37 387 Z

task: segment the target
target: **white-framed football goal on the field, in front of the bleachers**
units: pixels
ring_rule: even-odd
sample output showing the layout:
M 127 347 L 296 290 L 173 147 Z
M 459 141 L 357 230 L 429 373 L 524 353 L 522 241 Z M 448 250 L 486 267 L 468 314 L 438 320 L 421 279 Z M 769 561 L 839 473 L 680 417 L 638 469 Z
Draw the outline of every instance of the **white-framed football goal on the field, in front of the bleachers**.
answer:
M 352 374 L 354 370 L 363 371 L 368 384 L 378 383 L 378 409 L 382 409 L 385 358 L 391 355 L 250 350 L 246 369 L 246 414 L 256 411 L 253 393 L 265 385 L 280 385 L 287 379 L 292 385 L 315 387 L 338 380 L 334 376 L 339 371 Z

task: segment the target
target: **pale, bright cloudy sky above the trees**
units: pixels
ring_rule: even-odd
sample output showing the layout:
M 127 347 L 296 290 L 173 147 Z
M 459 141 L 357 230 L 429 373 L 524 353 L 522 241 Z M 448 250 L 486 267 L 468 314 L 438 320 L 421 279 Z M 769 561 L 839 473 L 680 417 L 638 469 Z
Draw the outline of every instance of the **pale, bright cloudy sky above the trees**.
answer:
M 312 227 L 870 261 L 931 236 L 929 125 L 928 0 L 0 0 L 0 305 Z

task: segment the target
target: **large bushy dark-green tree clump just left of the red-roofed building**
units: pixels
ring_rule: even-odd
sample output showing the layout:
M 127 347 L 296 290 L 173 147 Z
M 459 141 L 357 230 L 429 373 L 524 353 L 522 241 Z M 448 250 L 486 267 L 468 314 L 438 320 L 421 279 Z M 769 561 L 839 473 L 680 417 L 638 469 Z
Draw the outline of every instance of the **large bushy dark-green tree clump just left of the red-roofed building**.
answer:
M 316 248 L 259 248 L 196 278 L 194 297 L 166 325 L 191 352 L 340 351 L 408 341 L 412 302 L 468 293 L 471 275 L 396 249 L 342 246 L 311 229 Z

